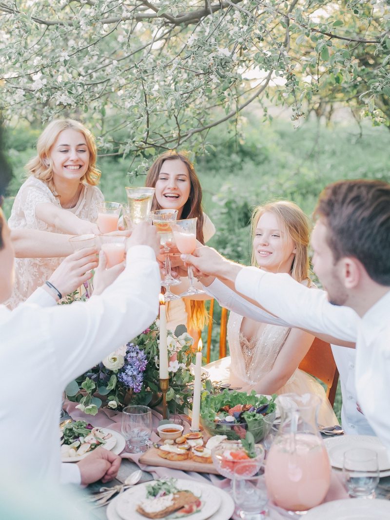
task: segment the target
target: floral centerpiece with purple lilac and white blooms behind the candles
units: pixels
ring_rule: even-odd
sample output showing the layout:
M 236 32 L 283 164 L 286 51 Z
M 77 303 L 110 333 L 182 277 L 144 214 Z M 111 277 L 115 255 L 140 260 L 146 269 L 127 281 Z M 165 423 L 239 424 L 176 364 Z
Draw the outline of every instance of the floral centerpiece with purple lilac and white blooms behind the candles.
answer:
M 101 406 L 122 410 L 128 404 L 159 404 L 159 323 L 160 320 L 155 320 L 139 336 L 69 383 L 66 394 L 69 400 L 79 403 L 76 408 L 96 415 Z M 189 370 L 193 360 L 191 344 L 192 337 L 184 325 L 179 325 L 175 333 L 168 331 L 171 359 L 166 399 L 170 413 L 184 413 L 186 408 L 191 408 L 190 383 L 194 379 Z

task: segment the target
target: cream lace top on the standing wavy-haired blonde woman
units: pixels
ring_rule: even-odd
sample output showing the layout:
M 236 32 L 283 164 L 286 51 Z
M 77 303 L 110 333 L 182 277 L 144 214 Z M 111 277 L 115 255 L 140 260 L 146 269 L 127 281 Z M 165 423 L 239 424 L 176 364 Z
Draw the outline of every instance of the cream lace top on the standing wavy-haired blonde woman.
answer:
M 102 201 L 104 201 L 104 197 L 99 188 L 86 184 L 81 190 L 76 205 L 66 211 L 70 211 L 83 220 L 96 222 L 96 203 Z M 8 220 L 9 227 L 11 229 L 40 229 L 62 233 L 55 226 L 36 217 L 36 206 L 42 202 L 51 202 L 61 207 L 59 199 L 54 196 L 48 186 L 32 175 L 18 191 Z M 7 302 L 8 307 L 15 308 L 20 302 L 26 300 L 37 287 L 40 287 L 51 276 L 61 261 L 62 258 L 16 258 L 15 284 L 12 295 Z

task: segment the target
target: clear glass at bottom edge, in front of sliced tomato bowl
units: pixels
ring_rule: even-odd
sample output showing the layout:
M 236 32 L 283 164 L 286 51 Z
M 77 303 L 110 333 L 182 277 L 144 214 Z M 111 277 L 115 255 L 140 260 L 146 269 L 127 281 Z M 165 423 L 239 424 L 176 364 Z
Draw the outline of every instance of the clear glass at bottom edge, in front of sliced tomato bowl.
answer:
M 265 518 L 268 497 L 264 469 L 258 469 L 251 460 L 237 462 L 233 476 L 233 499 L 243 520 Z

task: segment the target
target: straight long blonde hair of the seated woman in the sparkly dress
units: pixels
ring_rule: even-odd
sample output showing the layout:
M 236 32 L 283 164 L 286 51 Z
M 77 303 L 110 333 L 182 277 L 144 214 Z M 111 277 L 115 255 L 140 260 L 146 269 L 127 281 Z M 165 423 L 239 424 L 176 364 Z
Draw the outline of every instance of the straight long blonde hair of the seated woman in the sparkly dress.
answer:
M 288 200 L 268 202 L 257 206 L 251 218 L 252 243 L 256 234 L 259 218 L 264 213 L 273 213 L 282 230 L 287 232 L 296 246 L 296 253 L 291 265 L 291 276 L 298 282 L 310 282 L 309 255 L 307 252 L 310 238 L 308 218 L 299 206 Z M 258 267 L 252 248 L 252 265 Z

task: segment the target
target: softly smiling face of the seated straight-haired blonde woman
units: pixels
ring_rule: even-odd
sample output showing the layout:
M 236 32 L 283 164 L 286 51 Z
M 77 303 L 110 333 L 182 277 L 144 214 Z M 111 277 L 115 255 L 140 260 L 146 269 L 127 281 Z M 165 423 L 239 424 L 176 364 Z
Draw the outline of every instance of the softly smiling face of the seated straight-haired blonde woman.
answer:
M 259 267 L 270 272 L 290 272 L 296 247 L 276 215 L 266 211 L 258 219 L 253 250 Z

